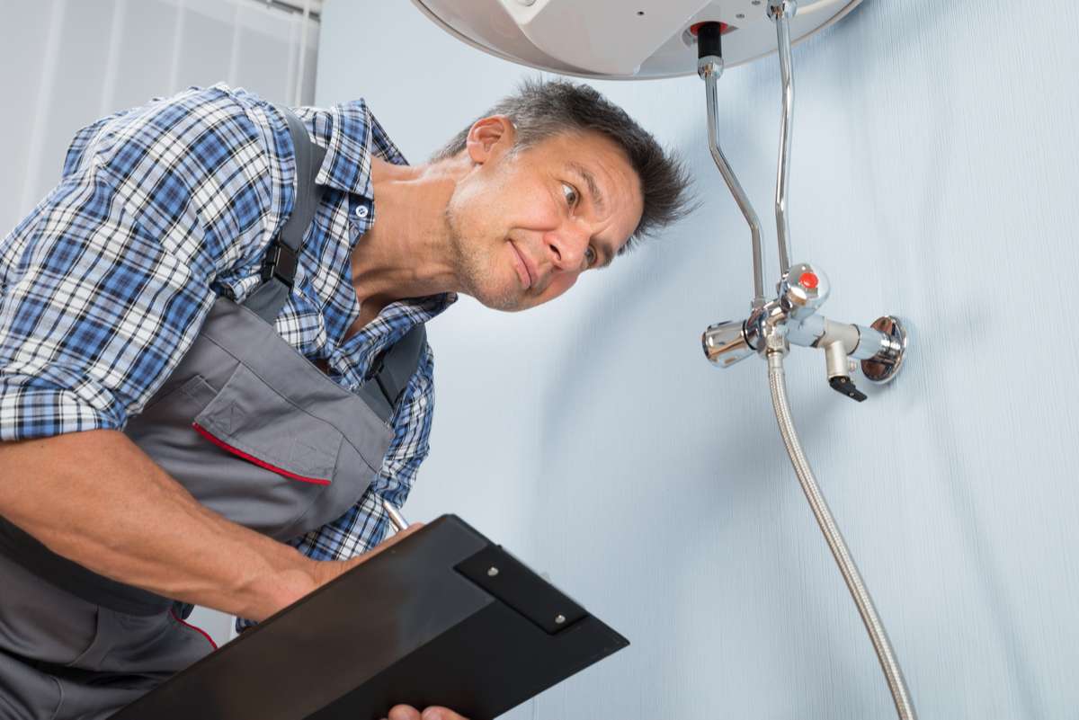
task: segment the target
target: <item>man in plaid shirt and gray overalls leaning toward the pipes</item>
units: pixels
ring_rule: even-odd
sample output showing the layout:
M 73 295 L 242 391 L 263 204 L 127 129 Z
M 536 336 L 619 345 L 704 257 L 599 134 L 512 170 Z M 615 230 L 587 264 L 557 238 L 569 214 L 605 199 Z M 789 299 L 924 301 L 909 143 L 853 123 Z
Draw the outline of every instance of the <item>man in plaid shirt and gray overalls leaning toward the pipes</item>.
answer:
M 260 621 L 370 557 L 433 407 L 422 337 L 371 394 L 390 348 L 684 211 L 680 165 L 587 86 L 528 83 L 416 166 L 361 101 L 296 113 L 215 86 L 98 121 L 0 245 L 2 717 L 107 717 L 211 650 L 186 604 Z

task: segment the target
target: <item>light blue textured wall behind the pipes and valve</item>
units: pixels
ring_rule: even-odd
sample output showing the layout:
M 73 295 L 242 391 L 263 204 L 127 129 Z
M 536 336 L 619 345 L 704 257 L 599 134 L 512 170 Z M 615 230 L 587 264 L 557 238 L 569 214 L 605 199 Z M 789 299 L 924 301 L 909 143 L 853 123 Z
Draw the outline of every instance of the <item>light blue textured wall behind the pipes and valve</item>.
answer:
M 795 51 L 795 259 L 830 274 L 830 317 L 900 313 L 914 350 L 862 405 L 795 350 L 794 410 L 925 719 L 1079 707 L 1077 18 L 1065 0 L 868 0 Z M 408 2 L 330 0 L 316 97 L 366 96 L 419 162 L 523 72 Z M 769 58 L 721 84 L 769 229 L 777 75 Z M 751 288 L 702 84 L 599 86 L 688 158 L 705 205 L 549 306 L 463 300 L 432 324 L 434 451 L 407 514 L 460 513 L 632 640 L 513 718 L 890 717 L 764 364 L 700 352 Z

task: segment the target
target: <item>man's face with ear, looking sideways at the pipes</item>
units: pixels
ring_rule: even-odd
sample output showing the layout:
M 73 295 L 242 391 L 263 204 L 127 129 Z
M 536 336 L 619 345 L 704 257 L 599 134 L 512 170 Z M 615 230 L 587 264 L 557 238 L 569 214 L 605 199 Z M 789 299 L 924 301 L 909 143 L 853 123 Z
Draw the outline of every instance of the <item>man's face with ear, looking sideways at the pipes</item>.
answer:
M 517 152 L 514 140 L 505 119 L 473 126 L 475 164 L 447 208 L 463 292 L 502 310 L 552 300 L 609 264 L 643 207 L 637 174 L 604 136 L 558 135 Z

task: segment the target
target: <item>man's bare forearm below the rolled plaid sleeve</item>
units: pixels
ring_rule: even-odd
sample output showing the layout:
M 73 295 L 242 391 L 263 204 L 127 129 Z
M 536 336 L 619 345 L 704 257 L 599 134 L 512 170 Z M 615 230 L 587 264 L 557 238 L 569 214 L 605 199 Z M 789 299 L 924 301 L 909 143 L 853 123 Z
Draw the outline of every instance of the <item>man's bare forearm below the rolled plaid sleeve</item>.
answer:
M 328 579 L 203 507 L 114 430 L 0 443 L 0 514 L 98 574 L 252 620 Z

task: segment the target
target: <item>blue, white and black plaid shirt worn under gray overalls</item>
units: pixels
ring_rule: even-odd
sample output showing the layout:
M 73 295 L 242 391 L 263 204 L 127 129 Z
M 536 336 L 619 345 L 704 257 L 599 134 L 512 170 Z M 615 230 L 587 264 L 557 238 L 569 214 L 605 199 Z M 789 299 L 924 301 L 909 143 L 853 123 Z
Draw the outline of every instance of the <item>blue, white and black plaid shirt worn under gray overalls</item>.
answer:
M 296 112 L 327 149 L 316 179 L 325 192 L 276 330 L 354 390 L 381 350 L 455 296 L 393 303 L 343 340 L 359 314 L 351 251 L 374 221 L 371 155 L 406 161 L 361 100 Z M 217 295 L 243 301 L 259 285 L 265 248 L 291 206 L 289 147 L 272 106 L 224 85 L 78 133 L 59 184 L 0 243 L 0 441 L 122 429 L 141 411 Z M 343 559 L 384 537 L 380 499 L 402 504 L 427 454 L 432 363 L 428 350 L 370 489 L 295 541 L 301 552 Z

